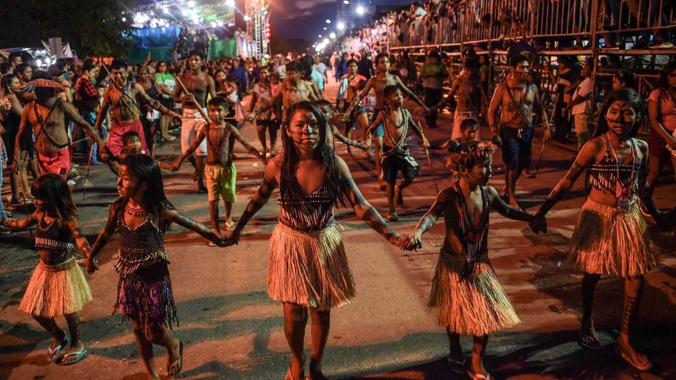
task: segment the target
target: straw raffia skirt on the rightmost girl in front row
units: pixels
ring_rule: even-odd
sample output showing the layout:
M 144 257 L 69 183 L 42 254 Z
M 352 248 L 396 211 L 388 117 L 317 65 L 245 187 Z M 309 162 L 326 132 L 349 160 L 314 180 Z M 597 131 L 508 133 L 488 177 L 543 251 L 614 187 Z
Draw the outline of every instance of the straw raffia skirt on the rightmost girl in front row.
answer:
M 625 212 L 587 198 L 571 237 L 568 264 L 587 273 L 623 278 L 652 271 L 657 259 L 646 228 L 639 202 Z

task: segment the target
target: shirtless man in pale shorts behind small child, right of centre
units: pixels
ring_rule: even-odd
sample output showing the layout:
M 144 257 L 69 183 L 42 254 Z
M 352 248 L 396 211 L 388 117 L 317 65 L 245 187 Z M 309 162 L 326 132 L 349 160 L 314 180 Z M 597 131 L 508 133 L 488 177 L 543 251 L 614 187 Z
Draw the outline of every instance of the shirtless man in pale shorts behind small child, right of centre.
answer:
M 435 111 L 450 102 L 454 95 L 458 97 L 451 133 L 453 140 L 457 140 L 463 136 L 460 128 L 463 120 L 473 119 L 479 123 L 481 104 L 483 102 L 483 104 L 488 105 L 488 96 L 486 96 L 486 91 L 483 91 L 483 85 L 481 85 L 478 73 L 479 60 L 474 57 L 466 57 L 465 62 L 463 62 L 463 71 L 453 80 L 448 96 L 444 100 L 441 100 L 438 105 L 432 107 L 432 110 Z M 480 139 L 478 133 L 475 139 Z

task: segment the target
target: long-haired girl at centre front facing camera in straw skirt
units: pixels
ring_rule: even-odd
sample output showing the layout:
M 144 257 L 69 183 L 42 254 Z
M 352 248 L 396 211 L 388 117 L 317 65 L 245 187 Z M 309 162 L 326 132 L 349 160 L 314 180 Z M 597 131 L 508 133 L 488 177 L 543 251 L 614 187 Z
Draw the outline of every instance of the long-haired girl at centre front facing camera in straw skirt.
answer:
M 303 379 L 303 337 L 312 316 L 310 378 L 321 373 L 333 307 L 350 303 L 355 296 L 333 208 L 350 205 L 359 219 L 392 244 L 400 235 L 385 223 L 352 179 L 350 170 L 326 145 L 326 120 L 317 105 L 301 101 L 287 111 L 282 141 L 284 153 L 267 164 L 263 181 L 240 217 L 226 244 L 236 244 L 242 230 L 267 203 L 279 185 L 279 224 L 270 240 L 267 291 L 283 302 L 284 332 L 292 359 L 285 379 Z

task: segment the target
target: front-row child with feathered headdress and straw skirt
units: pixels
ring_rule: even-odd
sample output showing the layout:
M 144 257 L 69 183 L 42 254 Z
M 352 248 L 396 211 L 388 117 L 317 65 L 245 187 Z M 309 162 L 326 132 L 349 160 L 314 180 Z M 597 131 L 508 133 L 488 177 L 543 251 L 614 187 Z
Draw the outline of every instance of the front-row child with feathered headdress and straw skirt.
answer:
M 449 142 L 447 167 L 459 180 L 438 194 L 403 244 L 403 248 L 417 250 L 422 246 L 422 234 L 444 217 L 446 235 L 427 305 L 436 308 L 439 324 L 446 327 L 451 370 L 467 372 L 470 379 L 491 378 L 483 367 L 488 334 L 520 322 L 488 259 L 490 208 L 510 219 L 532 219 L 487 186 L 494 150 L 495 145 L 488 141 Z M 472 335 L 474 340 L 472 363 L 466 369 L 460 334 Z

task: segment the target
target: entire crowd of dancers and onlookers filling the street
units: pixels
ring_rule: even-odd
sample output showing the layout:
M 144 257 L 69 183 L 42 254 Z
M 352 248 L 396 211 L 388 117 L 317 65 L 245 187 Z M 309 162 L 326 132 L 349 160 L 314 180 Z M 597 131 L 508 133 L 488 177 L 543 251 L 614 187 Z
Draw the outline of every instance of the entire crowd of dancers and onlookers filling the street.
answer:
M 151 378 L 159 378 L 151 360 L 152 345 L 166 348 L 167 374 L 181 372 L 184 344 L 170 333 L 178 315 L 166 232 L 171 224 L 178 224 L 211 246 L 233 246 L 278 188 L 279 223 L 270 242 L 268 292 L 273 300 L 283 302 L 285 336 L 292 354 L 285 379 L 305 378 L 303 336 L 308 315 L 313 323 L 308 378 L 326 378 L 321 361 L 330 311 L 355 297 L 346 247 L 334 217 L 335 208 L 341 206 L 353 208 L 359 220 L 407 250 L 421 248 L 422 235 L 444 217 L 445 237 L 427 305 L 436 308 L 439 324 L 447 329 L 450 369 L 472 379 L 489 379 L 483 365 L 489 334 L 519 323 L 488 260 L 490 209 L 528 222 L 535 233 L 546 233 L 547 212 L 588 170 L 589 194 L 569 255 L 573 266 L 585 273 L 578 344 L 588 350 L 601 347 L 591 316 L 596 282 L 601 275 L 624 278 L 625 306 L 616 345 L 634 368 L 650 369 L 652 362 L 634 349 L 630 333 L 643 276 L 658 264 L 641 212 L 661 228 L 676 219 L 675 210 L 663 212 L 652 201 L 662 167 L 668 161 L 676 163 L 675 62 L 664 66 L 648 98 L 647 112 L 632 89 L 631 74 L 619 71 L 597 120 L 591 123 L 596 102 L 590 95 L 589 62 L 580 65 L 578 72 L 577 62 L 559 61 L 555 76 L 560 101 L 554 103 L 561 106 L 553 118 L 563 121 L 554 122 L 553 135 L 567 139 L 574 127 L 579 152 L 540 209 L 528 213 L 519 207 L 517 180 L 532 175 L 528 168 L 535 129 L 542 126 L 546 142 L 551 125 L 538 71 L 531 70 L 537 65 L 531 53 L 510 56 L 505 80 L 495 88 L 488 83 L 488 62 L 472 51 L 463 55 L 457 73 L 438 51 L 431 51 L 420 68 L 406 53 L 393 57 L 366 48 L 359 56 L 351 54 L 334 53 L 326 63 L 322 56 L 292 53 L 272 59 L 209 62 L 202 51 L 191 51 L 178 62 L 149 58 L 136 66 L 123 60 L 109 65 L 91 58 L 57 60 L 46 71 L 35 68 L 28 57 L 11 55 L 0 65 L 0 143 L 5 147 L 2 152 L 7 152 L 1 159 L 8 166 L 12 188 L 8 201 L 33 203 L 35 208 L 12 218 L 0 204 L 0 225 L 6 228 L 3 233 L 35 226 L 40 262 L 19 309 L 53 336 L 47 350 L 51 361 L 71 365 L 87 353 L 80 339 L 78 311 L 91 300 L 92 292 L 73 255 L 75 246 L 84 255 L 84 269 L 94 274 L 96 256 L 118 233 L 115 307 L 132 321 Z M 335 100 L 326 99 L 323 91 L 330 74 L 339 83 Z M 448 93 L 445 87 L 450 87 Z M 248 110 L 242 104 L 246 96 L 251 96 Z M 416 109 L 404 107 L 404 98 L 416 102 Z M 437 117 L 445 107 L 452 108 L 454 121 L 447 126 L 447 141 L 433 145 L 425 131 L 445 128 Z M 637 138 L 644 118 L 651 130 L 647 143 Z M 569 124 L 567 131 L 562 129 L 564 121 Z M 247 123 L 256 124 L 262 150 L 240 133 Z M 156 161 L 156 136 L 170 143 L 175 139 L 170 134 L 174 125 L 180 128 L 181 156 L 174 163 Z M 490 133 L 484 139 L 481 125 L 488 125 Z M 359 140 L 352 138 L 355 127 L 362 129 Z M 454 181 L 438 191 L 415 230 L 407 234 L 398 232 L 394 223 L 399 219 L 397 209 L 404 204 L 404 189 L 420 171 L 407 143 L 409 131 L 420 139 L 425 152 L 447 151 L 448 175 Z M 359 191 L 346 161 L 336 154 L 335 139 L 363 150 L 360 159 L 369 159 L 375 145 L 375 174 L 388 200 L 385 218 Z M 69 183 L 76 172 L 72 152 L 78 149 L 78 140 L 86 141 L 82 153 L 89 157 L 88 165 L 107 163 L 117 177 L 114 186 L 119 198 L 110 206 L 93 245 L 82 234 L 71 195 L 74 183 Z M 237 202 L 235 141 L 265 163 L 260 186 L 236 224 L 231 215 Z M 506 168 L 506 186 L 500 192 L 488 186 L 497 150 Z M 168 174 L 161 170 L 176 172 L 186 160 L 194 168 L 197 191 L 207 194 L 211 228 L 181 215 L 166 197 L 163 175 Z M 69 334 L 57 326 L 57 316 L 65 316 Z M 461 334 L 473 338 L 469 363 L 463 357 Z

